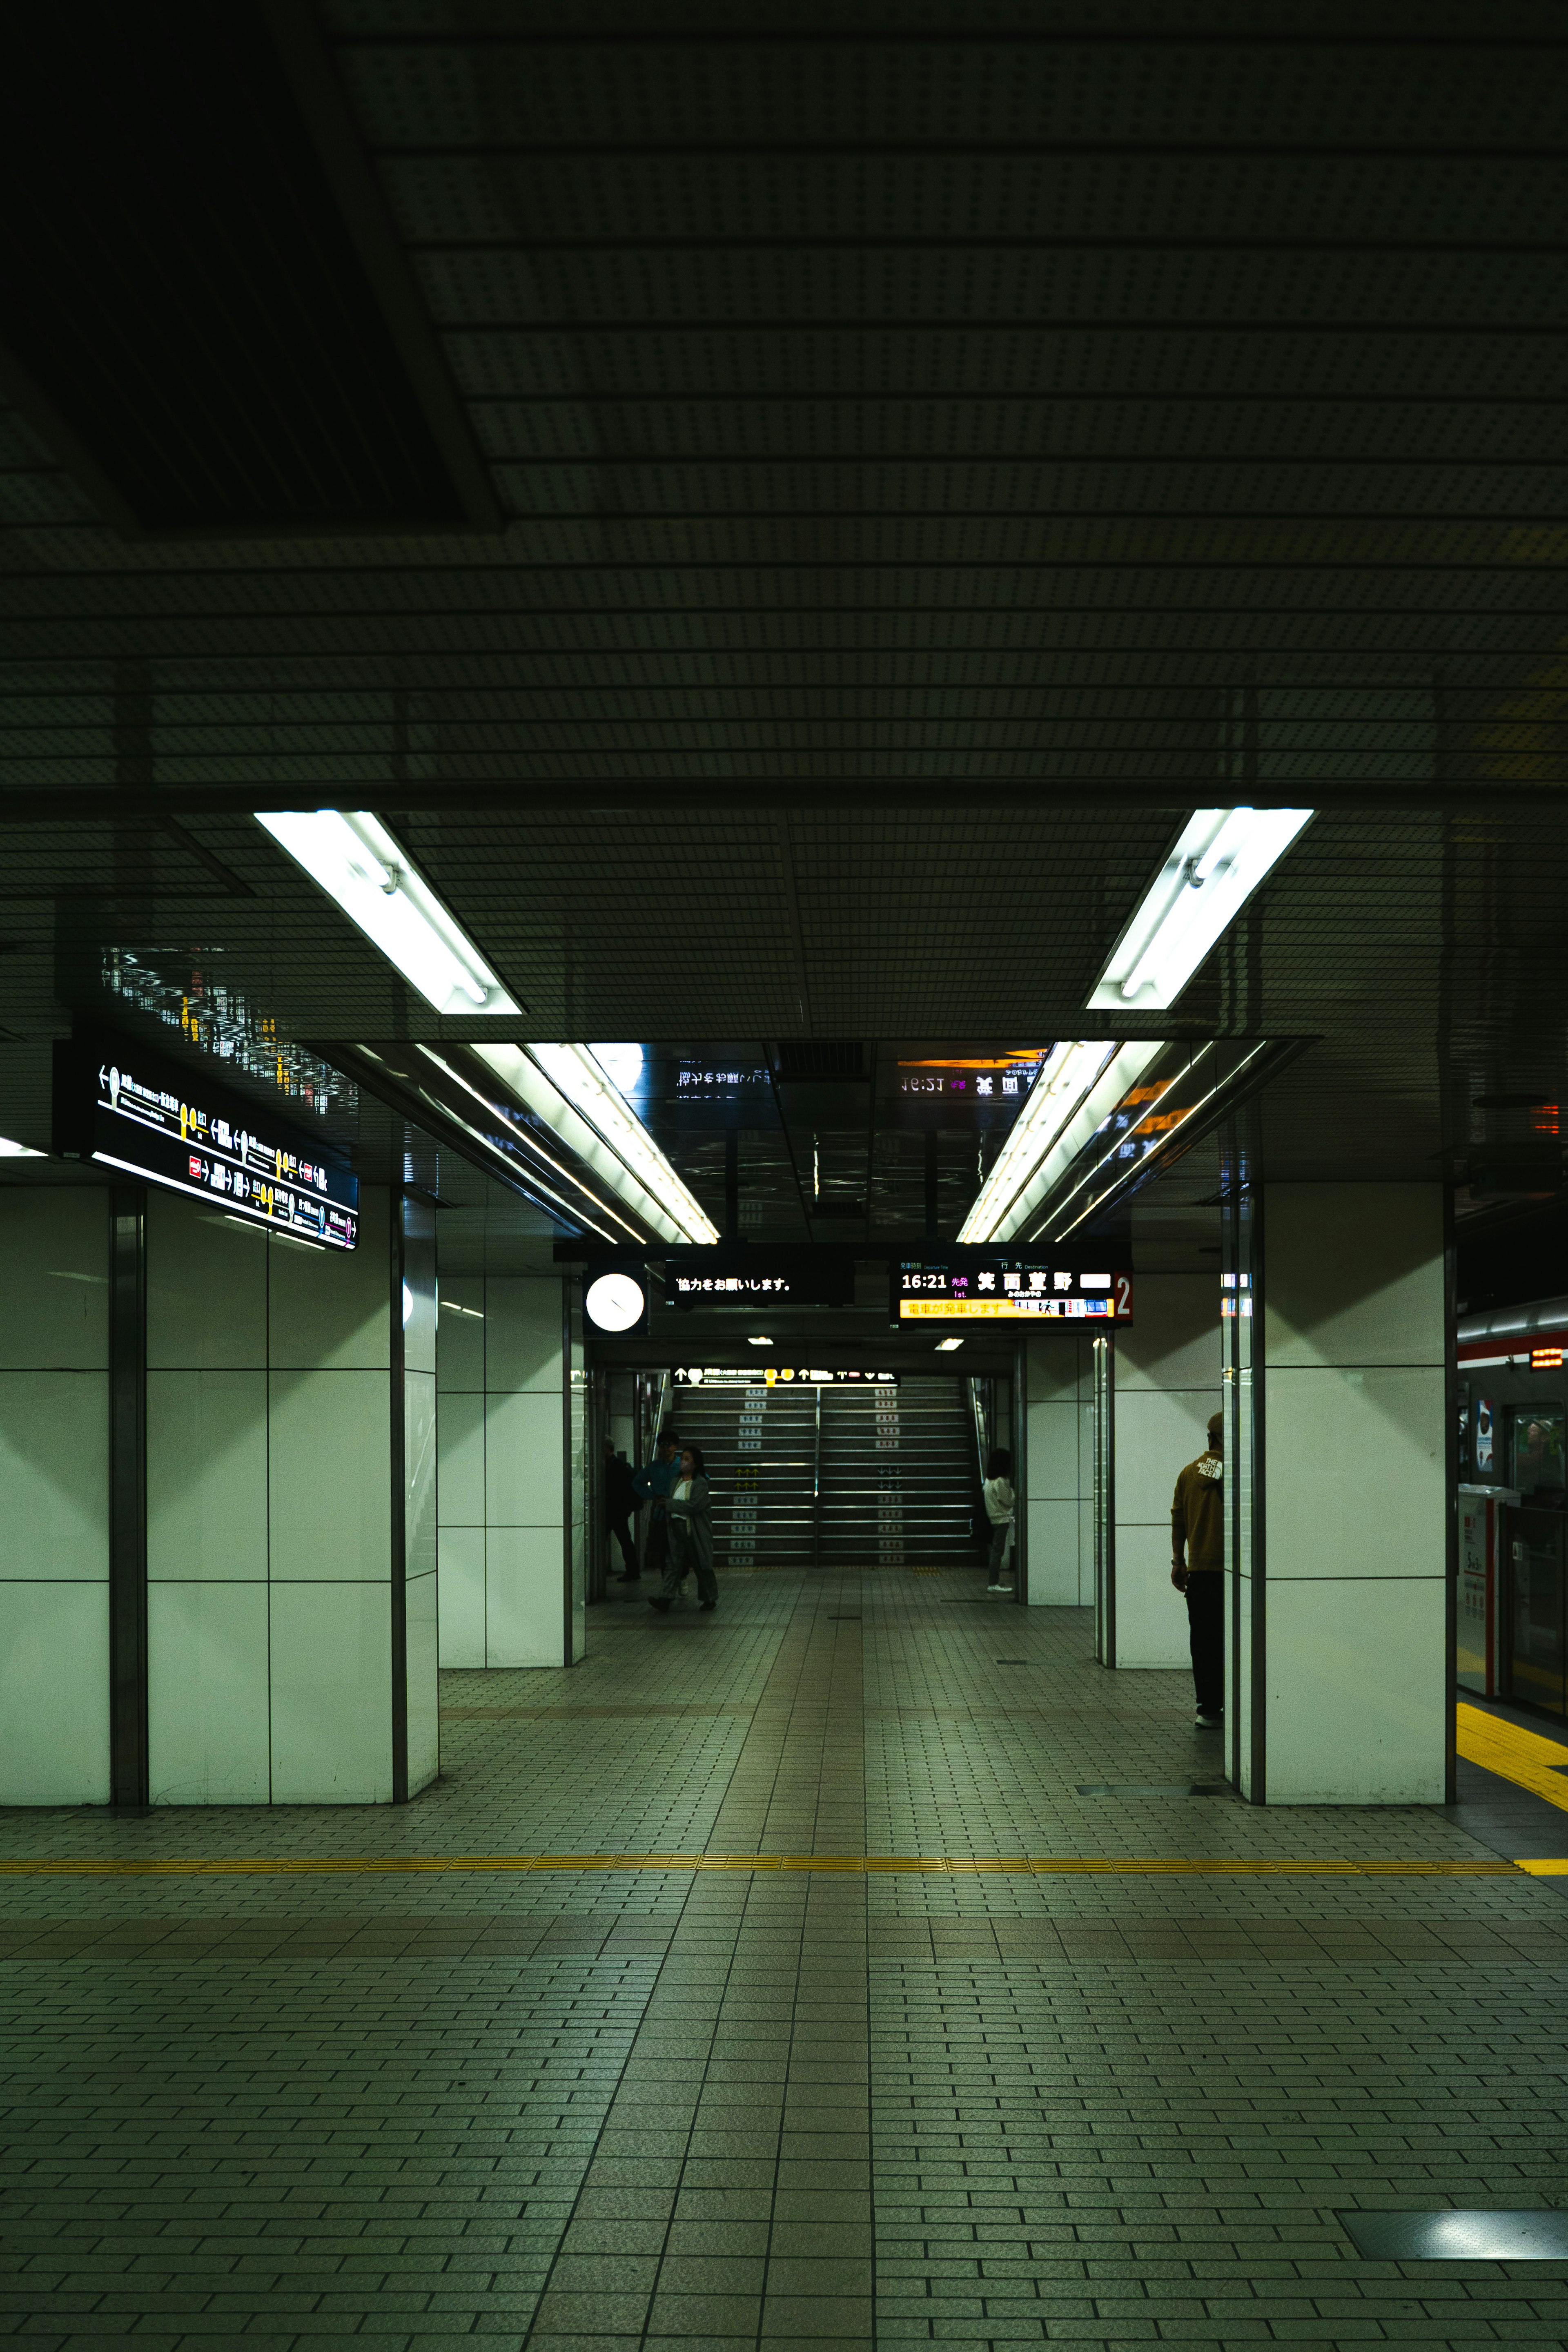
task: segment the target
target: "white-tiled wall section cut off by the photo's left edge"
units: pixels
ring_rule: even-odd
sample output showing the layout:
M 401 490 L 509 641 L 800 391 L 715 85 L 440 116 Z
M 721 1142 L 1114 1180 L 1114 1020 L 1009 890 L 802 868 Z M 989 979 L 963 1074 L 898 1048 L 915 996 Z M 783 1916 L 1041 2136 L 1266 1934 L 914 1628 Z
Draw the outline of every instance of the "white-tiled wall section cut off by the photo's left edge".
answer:
M 108 1804 L 108 1192 L 0 1188 L 0 1804 Z

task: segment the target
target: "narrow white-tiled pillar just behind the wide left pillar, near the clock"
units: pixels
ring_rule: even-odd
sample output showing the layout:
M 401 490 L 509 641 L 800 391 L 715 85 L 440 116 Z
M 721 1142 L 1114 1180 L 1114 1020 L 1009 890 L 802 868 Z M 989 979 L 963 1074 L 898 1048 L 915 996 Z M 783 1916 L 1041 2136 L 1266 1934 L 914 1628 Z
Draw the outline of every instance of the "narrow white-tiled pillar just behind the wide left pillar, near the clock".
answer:
M 442 1665 L 569 1665 L 559 1275 L 447 1275 L 437 1334 Z

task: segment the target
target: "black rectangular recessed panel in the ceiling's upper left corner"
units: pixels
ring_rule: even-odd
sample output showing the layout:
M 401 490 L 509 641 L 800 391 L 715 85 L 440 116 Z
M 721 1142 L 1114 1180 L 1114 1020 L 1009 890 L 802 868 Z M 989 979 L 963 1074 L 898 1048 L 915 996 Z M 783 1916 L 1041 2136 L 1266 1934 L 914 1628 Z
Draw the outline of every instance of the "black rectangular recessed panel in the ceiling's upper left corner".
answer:
M 9 360 L 108 520 L 470 520 L 254 0 L 9 12 L 0 282 Z

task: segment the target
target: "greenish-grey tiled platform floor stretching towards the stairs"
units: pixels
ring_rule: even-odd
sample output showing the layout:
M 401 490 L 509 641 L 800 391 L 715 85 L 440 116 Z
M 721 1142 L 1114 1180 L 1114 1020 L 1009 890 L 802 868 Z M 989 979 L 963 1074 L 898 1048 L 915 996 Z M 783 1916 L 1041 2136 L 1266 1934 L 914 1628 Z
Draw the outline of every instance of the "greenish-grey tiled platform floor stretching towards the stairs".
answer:
M 1561 2194 L 1540 1795 L 1199 1795 L 1185 1675 L 969 1573 L 442 1710 L 400 1809 L 0 1816 L 28 2343 L 1568 2340 L 1568 2263 L 1345 2227 Z

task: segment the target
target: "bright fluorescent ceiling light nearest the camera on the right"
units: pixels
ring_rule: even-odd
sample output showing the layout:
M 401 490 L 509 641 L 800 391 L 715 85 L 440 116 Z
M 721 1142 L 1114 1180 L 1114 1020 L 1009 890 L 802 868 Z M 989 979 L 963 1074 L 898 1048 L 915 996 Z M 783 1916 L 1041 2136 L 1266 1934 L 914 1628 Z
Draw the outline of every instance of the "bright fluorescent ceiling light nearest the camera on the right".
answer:
M 1194 809 L 1088 1004 L 1124 1014 L 1175 1004 L 1220 934 L 1312 823 L 1312 809 Z

